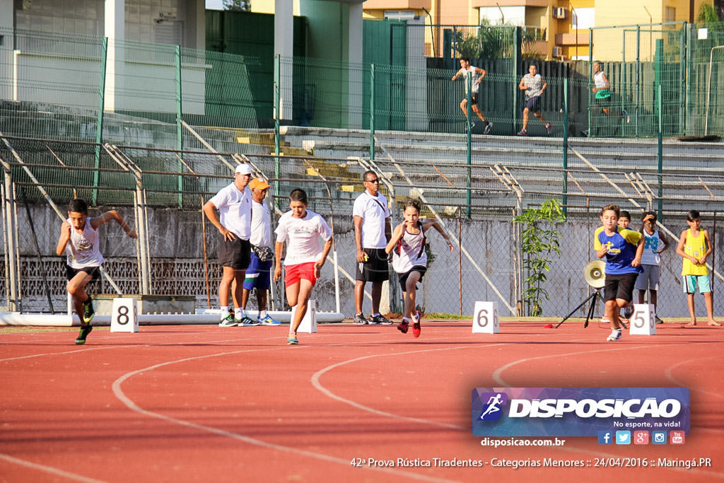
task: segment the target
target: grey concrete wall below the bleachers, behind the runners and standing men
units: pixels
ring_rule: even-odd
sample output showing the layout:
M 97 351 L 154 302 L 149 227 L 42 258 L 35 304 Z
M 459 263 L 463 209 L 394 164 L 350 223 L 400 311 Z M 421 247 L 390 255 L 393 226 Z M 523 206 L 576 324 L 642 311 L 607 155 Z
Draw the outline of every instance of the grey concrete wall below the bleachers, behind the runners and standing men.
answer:
M 121 209 L 127 219 L 132 220 L 130 209 Z M 321 210 L 320 210 L 321 211 Z M 93 211 L 91 215 L 95 214 Z M 324 213 L 322 213 L 324 214 Z M 18 210 L 19 224 L 22 232 L 28 233 L 28 221 L 25 211 Z M 393 226 L 400 222 L 400 214 L 394 214 Z M 32 218 L 38 232 L 38 243 L 45 257 L 44 264 L 52 268 L 51 287 L 54 295 L 63 300 L 64 271 L 63 259 L 54 255 L 54 248 L 59 232 L 59 219 L 54 212 L 45 206 L 33 206 Z M 455 237 L 460 235 L 463 245 L 467 248 L 476 264 L 509 303 L 513 301 L 513 256 L 515 247 L 511 245 L 511 224 L 508 219 L 489 219 L 468 222 L 462 220 L 458 226 L 457 219 L 446 219 L 448 227 Z M 154 264 L 156 293 L 175 293 L 177 295 L 196 295 L 198 306 L 206 305 L 206 289 L 203 280 L 203 232 L 201 230 L 201 213 L 177 211 L 173 209 L 153 209 L 149 224 L 152 227 L 151 257 Z M 550 295 L 544 301 L 543 311 L 546 316 L 563 317 L 578 303 L 589 295 L 589 288 L 584 282 L 583 269 L 586 263 L 595 258 L 592 251 L 592 232 L 598 227 L 597 220 L 573 221 L 560 224 L 560 253 L 552 256 L 545 285 Z M 354 276 L 355 249 L 351 217 L 335 214 L 336 230 L 334 249 L 340 266 Z M 678 226 L 672 227 L 678 229 Z M 724 235 L 724 229 L 717 230 L 717 239 Z M 211 294 L 215 297 L 219 282 L 219 267 L 216 264 L 218 247 L 216 230 L 206 224 L 206 245 L 211 270 Z M 135 276 L 135 243 L 127 238 L 116 224 L 101 227 L 101 252 L 107 260 L 107 268 L 112 276 L 126 280 L 130 290 L 137 290 Z M 445 242 L 437 232 L 429 235 L 430 249 L 434 260 L 429 264 L 424 281 L 418 289 L 418 305 L 426 312 L 458 313 L 460 309 L 460 293 L 462 293 L 463 314 L 471 315 L 476 301 L 498 301 L 500 314 L 508 316 L 506 309 L 493 288 L 487 284 L 478 269 L 464 256 L 459 261 L 459 253 L 447 251 Z M 28 305 L 43 303 L 45 295 L 40 284 L 39 265 L 33 248 L 33 240 L 29 236 L 22 238 L 20 247 L 24 263 L 24 279 L 32 281 L 23 285 L 23 294 Z M 718 251 L 717 266 L 722 266 L 724 253 Z M 460 263 L 460 266 L 458 265 Z M 314 298 L 318 301 L 321 311 L 334 311 L 334 279 L 332 256 L 322 269 L 322 277 L 316 285 Z M 670 248 L 662 255 L 661 286 L 659 290 L 659 314 L 663 318 L 688 316 L 686 297 L 680 285 L 681 257 L 675 255 Z M 0 285 L 4 282 L 0 280 Z M 715 287 L 719 280 L 715 282 Z M 0 296 L 4 295 L 4 287 L 0 287 Z M 31 290 L 32 289 L 32 290 Z M 282 286 L 277 287 L 280 293 Z M 340 277 L 342 313 L 353 316 L 353 282 Z M 215 303 L 215 299 L 214 299 Z M 0 304 L 1 305 L 1 304 Z M 364 301 L 364 311 L 369 313 L 369 299 Z M 697 313 L 704 313 L 703 298 L 696 295 Z M 597 316 L 600 311 L 597 311 Z M 724 313 L 724 299 L 715 297 L 715 314 Z M 576 316 L 585 316 L 580 311 Z

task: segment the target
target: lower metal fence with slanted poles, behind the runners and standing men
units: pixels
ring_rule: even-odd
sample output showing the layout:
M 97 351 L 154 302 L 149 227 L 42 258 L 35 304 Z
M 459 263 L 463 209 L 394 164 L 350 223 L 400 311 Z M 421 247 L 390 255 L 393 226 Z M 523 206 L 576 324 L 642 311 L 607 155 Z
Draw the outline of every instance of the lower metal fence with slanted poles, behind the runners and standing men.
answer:
M 138 228 L 137 243 L 112 225 L 101 229 L 106 270 L 122 293 L 194 295 L 197 306 L 216 306 L 218 236 L 203 219 L 201 206 L 230 182 L 232 167 L 238 162 L 251 163 L 257 175 L 269 179 L 277 214 L 286 211 L 287 193 L 301 187 L 310 197 L 309 209 L 332 224 L 340 277 L 336 282 L 333 262 L 327 264 L 316 298 L 322 310 L 335 309 L 338 283 L 340 310 L 349 316 L 354 310 L 355 264 L 351 212 L 363 189 L 361 175 L 366 169 L 375 169 L 384 180 L 382 190 L 390 199 L 393 224 L 402 219 L 406 199 L 419 198 L 424 202 L 423 217 L 437 217 L 453 240 L 456 249 L 450 253 L 442 237 L 434 232 L 429 236 L 432 256 L 418 297 L 421 308 L 428 312 L 469 315 L 475 301 L 488 300 L 497 301 L 503 314 L 529 314 L 530 301 L 523 296 L 527 276 L 521 254 L 523 227 L 514 224 L 513 218 L 550 198 L 565 200 L 567 219 L 555 226 L 561 255 L 551 258 L 545 286 L 550 298 L 542 304 L 547 316 L 563 316 L 587 297 L 583 267 L 594 258 L 592 232 L 599 226 L 599 210 L 606 203 L 615 202 L 631 211 L 634 227 L 639 226 L 644 209 L 656 210 L 661 205 L 659 228 L 672 243 L 662 256 L 658 301 L 663 317 L 686 316 L 678 276 L 681 258 L 675 255 L 676 240 L 686 227 L 686 210 L 702 211 L 703 225 L 715 244 L 722 235 L 721 224 L 717 227 L 724 209 L 720 172 L 660 174 L 645 169 L 644 164 L 622 170 L 608 165 L 609 155 L 590 146 L 589 140 L 569 147 L 577 161 L 567 170 L 516 163 L 505 155 L 473 159 L 471 164 L 432 157 L 421 161 L 403 156 L 400 152 L 404 151 L 381 138 L 377 146 L 384 156 L 374 160 L 367 156 L 311 156 L 307 151 L 295 152 L 292 146 L 283 156 L 274 156 L 13 137 L 0 142 L 5 172 L 6 274 L 1 289 L 6 306 L 26 311 L 49 309 L 45 287 L 49 287 L 56 310 L 64 307 L 64 261 L 54 255 L 54 246 L 64 206 L 76 196 L 95 196 L 93 213 L 117 208 Z M 526 146 L 521 143 L 520 147 Z M 628 149 L 638 148 L 642 157 L 655 158 L 647 147 L 650 145 L 639 141 Z M 101 150 L 98 168 L 93 167 L 96 148 Z M 439 150 L 447 148 L 439 146 Z M 535 152 L 540 156 L 544 149 Z M 98 185 L 93 184 L 96 176 L 102 180 Z M 566 182 L 575 190 L 564 192 Z M 657 183 L 662 186 L 662 197 Z M 710 259 L 715 287 L 722 281 L 721 253 L 716 250 Z M 106 280 L 96 291 L 114 293 L 115 289 Z M 282 287 L 275 286 L 274 293 L 274 303 L 282 307 Z M 720 298 L 715 301 L 720 313 Z M 393 311 L 400 309 L 394 283 L 390 285 L 390 306 Z M 585 308 L 579 315 L 584 312 Z

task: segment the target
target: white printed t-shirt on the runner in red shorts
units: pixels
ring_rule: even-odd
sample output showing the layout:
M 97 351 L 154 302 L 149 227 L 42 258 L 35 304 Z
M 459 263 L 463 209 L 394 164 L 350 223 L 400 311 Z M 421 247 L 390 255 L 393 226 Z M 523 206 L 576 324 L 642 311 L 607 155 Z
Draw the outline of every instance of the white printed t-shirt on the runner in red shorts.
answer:
M 320 238 L 324 241 L 332 238 L 332 228 L 319 214 L 307 210 L 303 218 L 292 217 L 287 211 L 279 218 L 277 241 L 287 243 L 285 266 L 306 264 L 319 260 L 322 252 Z

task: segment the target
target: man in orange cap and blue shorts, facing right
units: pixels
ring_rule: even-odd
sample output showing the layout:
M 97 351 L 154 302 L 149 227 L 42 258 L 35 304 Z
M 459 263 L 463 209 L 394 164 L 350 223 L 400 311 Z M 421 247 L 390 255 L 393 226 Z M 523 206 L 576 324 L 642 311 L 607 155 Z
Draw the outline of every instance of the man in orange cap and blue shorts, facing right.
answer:
M 271 214 L 266 203 L 266 190 L 269 183 L 264 178 L 256 177 L 249 182 L 251 190 L 251 262 L 246 270 L 244 291 L 241 296 L 243 320 L 251 318 L 246 314 L 246 303 L 249 293 L 256 289 L 256 306 L 259 314 L 256 322 L 262 325 L 279 325 L 281 322 L 266 313 L 266 293 L 271 286 L 271 264 L 274 251 L 271 250 Z

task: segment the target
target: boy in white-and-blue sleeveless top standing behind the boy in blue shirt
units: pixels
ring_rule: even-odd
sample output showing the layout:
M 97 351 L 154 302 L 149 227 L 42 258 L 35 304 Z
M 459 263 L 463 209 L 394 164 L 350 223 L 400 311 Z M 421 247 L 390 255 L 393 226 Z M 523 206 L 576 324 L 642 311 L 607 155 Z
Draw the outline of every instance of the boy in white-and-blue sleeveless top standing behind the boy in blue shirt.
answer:
M 657 324 L 663 321 L 659 318 L 656 309 L 657 290 L 659 290 L 659 265 L 661 263 L 660 253 L 669 248 L 669 240 L 666 236 L 656 230 L 656 213 L 654 211 L 644 211 L 644 227 L 641 233 L 644 235 L 644 252 L 641 253 L 641 268 L 643 272 L 636 278 L 636 285 L 633 286 L 639 290 L 639 303 L 644 303 L 646 291 L 649 290 L 651 298 L 650 303 L 654 305 L 654 314 L 656 314 Z

